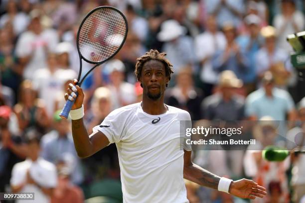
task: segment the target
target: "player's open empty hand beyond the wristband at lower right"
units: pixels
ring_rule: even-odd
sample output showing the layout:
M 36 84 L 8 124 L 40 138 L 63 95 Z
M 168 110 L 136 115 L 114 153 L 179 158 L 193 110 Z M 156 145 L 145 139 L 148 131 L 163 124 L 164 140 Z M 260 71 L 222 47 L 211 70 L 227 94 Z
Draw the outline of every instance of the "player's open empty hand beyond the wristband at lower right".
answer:
M 252 199 L 256 197 L 263 198 L 266 193 L 266 189 L 259 186 L 252 180 L 241 179 L 233 181 L 230 185 L 229 193 L 239 198 Z

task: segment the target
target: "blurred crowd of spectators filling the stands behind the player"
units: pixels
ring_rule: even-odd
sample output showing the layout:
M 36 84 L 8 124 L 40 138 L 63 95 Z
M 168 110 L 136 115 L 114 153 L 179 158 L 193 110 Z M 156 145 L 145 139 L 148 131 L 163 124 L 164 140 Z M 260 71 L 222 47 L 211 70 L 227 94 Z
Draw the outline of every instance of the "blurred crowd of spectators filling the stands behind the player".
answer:
M 123 11 L 129 32 L 114 59 L 83 83 L 89 133 L 112 110 L 141 102 L 134 67 L 150 49 L 173 64 L 165 103 L 192 120 L 270 121 L 257 138 L 262 149 L 278 131 L 305 131 L 305 72 L 292 66 L 286 41 L 305 29 L 303 0 L 1 0 L 0 192 L 35 192 L 39 203 L 122 201 L 116 146 L 80 160 L 71 121 L 59 117 L 78 75 L 78 26 L 101 5 Z M 91 67 L 83 62 L 83 73 Z M 277 129 L 276 120 L 291 124 Z M 193 159 L 219 176 L 266 187 L 268 197 L 253 202 L 305 203 L 305 155 L 271 163 L 260 151 L 201 150 Z M 245 202 L 186 187 L 190 203 Z

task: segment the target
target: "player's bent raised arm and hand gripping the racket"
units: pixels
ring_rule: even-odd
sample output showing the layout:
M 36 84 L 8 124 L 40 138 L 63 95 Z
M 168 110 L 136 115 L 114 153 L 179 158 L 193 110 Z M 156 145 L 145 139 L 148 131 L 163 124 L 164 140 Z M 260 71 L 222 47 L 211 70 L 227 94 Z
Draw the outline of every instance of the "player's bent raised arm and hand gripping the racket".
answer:
M 72 110 L 78 111 L 83 110 L 82 105 L 84 101 L 84 93 L 79 86 L 75 86 L 76 83 L 77 80 L 74 80 L 74 84 L 69 84 L 69 88 L 65 94 L 65 100 L 68 100 L 70 95 L 73 95 L 72 100 L 74 100 L 76 97 L 74 92 L 77 92 L 78 97 L 72 106 Z M 72 135 L 77 155 L 80 158 L 89 157 L 109 144 L 108 138 L 100 131 L 93 132 L 89 136 L 88 131 L 84 125 L 83 118 L 76 120 L 72 119 Z

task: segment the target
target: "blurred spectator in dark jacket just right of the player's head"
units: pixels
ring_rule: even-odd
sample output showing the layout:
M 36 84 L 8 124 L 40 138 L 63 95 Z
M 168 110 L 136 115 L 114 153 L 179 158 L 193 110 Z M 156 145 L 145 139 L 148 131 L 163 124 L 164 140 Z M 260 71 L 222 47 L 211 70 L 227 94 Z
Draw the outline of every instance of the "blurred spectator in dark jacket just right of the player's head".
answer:
M 201 118 L 200 103 L 203 99 L 201 90 L 193 85 L 192 70 L 190 67 L 180 69 L 176 76 L 176 85 L 172 89 L 168 89 L 166 95 L 167 104 L 190 113 L 192 120 Z

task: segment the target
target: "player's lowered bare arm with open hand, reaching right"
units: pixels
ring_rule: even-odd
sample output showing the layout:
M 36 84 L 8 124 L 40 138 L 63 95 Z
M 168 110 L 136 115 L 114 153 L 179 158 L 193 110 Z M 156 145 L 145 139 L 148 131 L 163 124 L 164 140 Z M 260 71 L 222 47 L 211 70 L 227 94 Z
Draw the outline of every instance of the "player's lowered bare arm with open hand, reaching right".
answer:
M 201 186 L 213 188 L 216 190 L 224 188 L 223 184 L 220 184 L 221 179 L 223 178 L 220 178 L 219 176 L 216 176 L 215 174 L 192 163 L 191 151 L 184 150 L 183 176 L 185 179 L 197 183 Z M 227 192 L 239 198 L 253 200 L 256 197 L 263 198 L 264 195 L 267 194 L 264 187 L 261 187 L 254 181 L 247 179 L 231 181 Z

